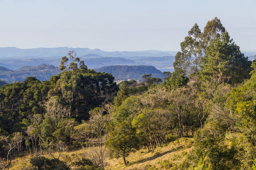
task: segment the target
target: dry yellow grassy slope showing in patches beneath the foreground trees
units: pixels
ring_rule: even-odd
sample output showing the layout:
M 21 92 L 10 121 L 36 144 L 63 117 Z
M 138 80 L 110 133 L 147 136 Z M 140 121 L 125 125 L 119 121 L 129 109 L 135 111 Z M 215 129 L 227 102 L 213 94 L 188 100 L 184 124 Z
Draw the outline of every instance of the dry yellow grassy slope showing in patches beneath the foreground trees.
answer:
M 123 164 L 122 158 L 107 158 L 105 169 L 176 169 L 175 166 L 181 164 L 188 152 L 193 148 L 192 141 L 193 138 L 177 139 L 174 142 L 168 143 L 166 146 L 156 147 L 153 153 L 148 152 L 147 148 L 142 148 L 141 150 L 131 153 L 126 158 L 126 161 L 129 162 L 127 167 Z M 72 158 L 73 154 L 79 155 L 86 150 L 88 150 L 88 148 L 85 150 L 63 152 L 60 159 L 67 162 L 68 160 L 65 159 L 67 158 L 66 155 L 71 156 Z M 49 155 L 43 156 L 50 158 Z M 28 163 L 30 158 L 31 156 L 28 154 L 21 158 L 14 159 L 11 169 L 16 169 L 16 165 L 23 164 L 24 162 Z M 164 162 L 164 160 L 167 161 Z

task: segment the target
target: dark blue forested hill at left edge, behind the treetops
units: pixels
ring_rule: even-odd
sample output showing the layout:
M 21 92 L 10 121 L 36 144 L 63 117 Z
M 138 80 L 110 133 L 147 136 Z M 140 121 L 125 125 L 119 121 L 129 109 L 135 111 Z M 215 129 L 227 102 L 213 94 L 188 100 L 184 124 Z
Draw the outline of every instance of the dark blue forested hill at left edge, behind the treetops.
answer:
M 5 67 L 0 67 L 0 79 L 7 83 L 12 83 L 14 80 L 23 82 L 28 76 L 35 76 L 40 81 L 49 80 L 52 75 L 60 74 L 59 67 L 53 65 L 39 66 L 24 66 L 17 70 L 9 70 Z

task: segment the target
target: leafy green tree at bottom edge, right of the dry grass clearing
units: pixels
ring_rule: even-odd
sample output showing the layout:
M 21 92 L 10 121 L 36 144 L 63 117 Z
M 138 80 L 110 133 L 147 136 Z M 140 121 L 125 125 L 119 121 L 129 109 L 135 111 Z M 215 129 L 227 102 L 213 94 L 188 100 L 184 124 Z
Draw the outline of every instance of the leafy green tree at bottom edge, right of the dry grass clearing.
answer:
M 214 121 L 207 124 L 203 131 L 197 131 L 193 163 L 205 157 L 205 165 L 211 169 L 240 169 L 240 162 L 236 159 L 237 148 L 234 143 L 227 147 L 224 139 L 225 129 Z

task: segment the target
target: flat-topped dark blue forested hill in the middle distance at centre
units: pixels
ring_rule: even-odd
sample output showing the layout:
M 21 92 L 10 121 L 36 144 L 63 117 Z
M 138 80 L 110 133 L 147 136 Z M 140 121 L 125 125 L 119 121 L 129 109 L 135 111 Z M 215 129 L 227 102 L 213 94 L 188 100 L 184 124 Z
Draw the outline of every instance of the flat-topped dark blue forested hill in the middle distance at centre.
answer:
M 152 74 L 153 77 L 164 78 L 162 71 L 156 69 L 154 66 L 105 66 L 94 69 L 98 72 L 111 73 L 115 80 L 126 80 L 126 79 L 135 79 L 141 80 L 142 76 L 145 74 Z

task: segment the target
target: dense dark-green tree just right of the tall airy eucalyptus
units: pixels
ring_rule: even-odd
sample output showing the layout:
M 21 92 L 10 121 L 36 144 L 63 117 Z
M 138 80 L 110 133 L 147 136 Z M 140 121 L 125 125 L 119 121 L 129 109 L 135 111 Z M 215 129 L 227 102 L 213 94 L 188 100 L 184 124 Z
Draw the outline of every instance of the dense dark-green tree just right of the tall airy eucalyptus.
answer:
M 228 32 L 223 32 L 221 38 L 209 43 L 205 57 L 202 58 L 203 79 L 211 79 L 212 75 L 225 77 L 226 82 L 241 83 L 249 78 L 251 62 L 241 52 L 239 46 L 230 40 Z

